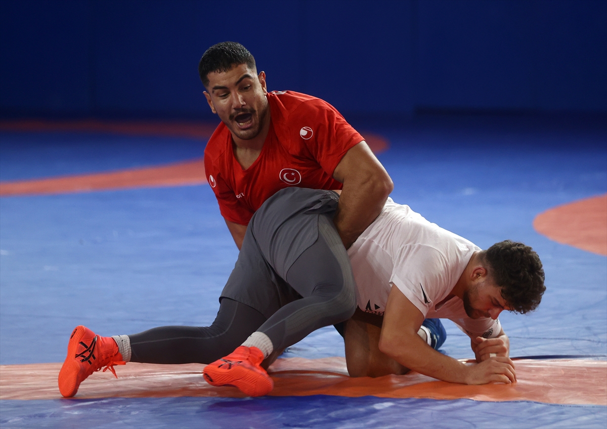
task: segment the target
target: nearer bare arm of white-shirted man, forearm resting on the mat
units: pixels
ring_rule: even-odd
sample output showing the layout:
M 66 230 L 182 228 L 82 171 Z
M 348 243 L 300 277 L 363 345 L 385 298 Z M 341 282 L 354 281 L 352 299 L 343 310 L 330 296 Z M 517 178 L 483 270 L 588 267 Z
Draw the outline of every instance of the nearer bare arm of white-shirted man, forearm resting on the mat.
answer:
M 492 357 L 467 366 L 445 356 L 418 335 L 424 315 L 396 287 L 392 286 L 386 303 L 379 350 L 404 367 L 452 383 L 510 383 L 516 380 L 514 363 L 508 357 Z

